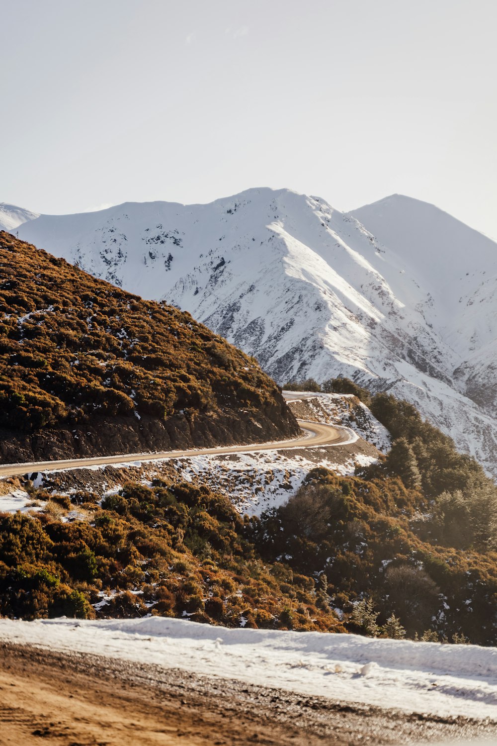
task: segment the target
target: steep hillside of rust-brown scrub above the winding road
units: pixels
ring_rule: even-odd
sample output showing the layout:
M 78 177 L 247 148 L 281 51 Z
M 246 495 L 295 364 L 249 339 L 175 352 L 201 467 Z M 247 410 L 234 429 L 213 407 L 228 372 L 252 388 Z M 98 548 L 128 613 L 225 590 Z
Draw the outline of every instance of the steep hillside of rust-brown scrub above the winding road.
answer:
M 299 429 L 256 361 L 188 313 L 0 233 L 0 457 L 262 442 Z

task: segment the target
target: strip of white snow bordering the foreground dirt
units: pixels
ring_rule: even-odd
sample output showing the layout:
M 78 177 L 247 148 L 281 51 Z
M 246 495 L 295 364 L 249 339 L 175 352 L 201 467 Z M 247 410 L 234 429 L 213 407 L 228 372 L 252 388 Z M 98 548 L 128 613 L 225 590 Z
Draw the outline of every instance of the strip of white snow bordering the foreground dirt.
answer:
M 0 639 L 409 712 L 497 718 L 497 649 L 163 617 L 0 620 Z

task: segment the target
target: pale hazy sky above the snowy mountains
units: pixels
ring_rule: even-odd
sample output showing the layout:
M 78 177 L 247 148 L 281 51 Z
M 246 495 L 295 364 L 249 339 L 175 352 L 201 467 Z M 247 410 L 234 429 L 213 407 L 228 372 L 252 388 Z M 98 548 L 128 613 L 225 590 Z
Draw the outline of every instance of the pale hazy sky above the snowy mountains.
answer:
M 496 0 L 0 0 L 0 201 L 393 192 L 497 239 Z

